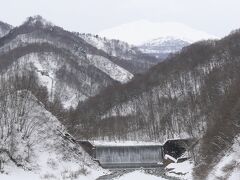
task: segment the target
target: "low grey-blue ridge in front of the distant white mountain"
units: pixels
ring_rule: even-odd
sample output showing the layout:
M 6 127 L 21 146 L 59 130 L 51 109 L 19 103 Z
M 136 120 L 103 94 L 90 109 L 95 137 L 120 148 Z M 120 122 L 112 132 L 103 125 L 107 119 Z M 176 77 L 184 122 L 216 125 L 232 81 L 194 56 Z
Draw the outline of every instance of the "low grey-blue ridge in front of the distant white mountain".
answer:
M 149 42 L 140 45 L 138 48 L 143 53 L 164 59 L 170 53 L 178 52 L 189 44 L 189 42 L 181 39 L 166 37 L 150 40 Z

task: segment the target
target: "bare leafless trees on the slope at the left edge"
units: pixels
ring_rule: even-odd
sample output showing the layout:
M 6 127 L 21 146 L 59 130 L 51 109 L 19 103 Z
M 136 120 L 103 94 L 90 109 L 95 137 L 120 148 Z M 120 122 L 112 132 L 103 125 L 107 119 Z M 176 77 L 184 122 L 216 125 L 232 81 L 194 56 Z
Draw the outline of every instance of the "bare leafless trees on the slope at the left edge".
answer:
M 32 147 L 37 143 L 32 136 L 44 121 L 39 121 L 34 113 L 41 105 L 40 100 L 47 102 L 47 90 L 38 86 L 37 81 L 33 72 L 0 76 L 1 168 L 7 159 L 23 166 L 21 162 L 29 160 Z M 25 154 L 19 152 L 22 149 Z

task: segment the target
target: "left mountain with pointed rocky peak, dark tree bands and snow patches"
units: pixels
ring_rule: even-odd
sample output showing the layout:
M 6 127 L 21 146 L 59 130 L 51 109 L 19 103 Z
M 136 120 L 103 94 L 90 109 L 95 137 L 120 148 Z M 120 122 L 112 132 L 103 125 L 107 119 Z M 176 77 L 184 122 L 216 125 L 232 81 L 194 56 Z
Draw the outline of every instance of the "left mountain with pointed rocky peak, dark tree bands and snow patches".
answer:
M 0 56 L 5 62 L 3 72 L 15 72 L 17 67 L 22 72 L 34 71 L 51 98 L 57 94 L 65 107 L 74 107 L 109 85 L 133 78 L 121 66 L 121 59 L 40 16 L 28 18 L 2 37 Z

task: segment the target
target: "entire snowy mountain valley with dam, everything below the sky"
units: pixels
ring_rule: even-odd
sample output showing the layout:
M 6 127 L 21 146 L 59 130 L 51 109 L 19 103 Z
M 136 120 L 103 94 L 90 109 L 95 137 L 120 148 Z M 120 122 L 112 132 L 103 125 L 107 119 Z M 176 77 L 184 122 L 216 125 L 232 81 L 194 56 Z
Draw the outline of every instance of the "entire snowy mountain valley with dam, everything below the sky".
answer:
M 239 176 L 240 30 L 0 22 L 0 179 Z

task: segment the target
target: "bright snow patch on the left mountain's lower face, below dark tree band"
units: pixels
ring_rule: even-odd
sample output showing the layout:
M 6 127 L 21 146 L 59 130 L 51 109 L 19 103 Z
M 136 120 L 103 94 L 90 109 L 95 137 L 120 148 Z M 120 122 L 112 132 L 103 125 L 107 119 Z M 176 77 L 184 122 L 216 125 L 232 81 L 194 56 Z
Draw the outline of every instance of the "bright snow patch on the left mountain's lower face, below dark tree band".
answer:
M 40 84 L 47 87 L 50 100 L 53 100 L 57 92 L 64 108 L 76 107 L 79 101 L 84 101 L 87 96 L 74 86 L 69 86 L 64 81 L 58 81 L 57 72 L 63 67 L 64 60 L 55 53 L 30 53 L 20 57 L 8 73 L 12 74 L 14 68 L 18 68 L 23 73 L 26 70 L 34 70 L 38 76 Z M 18 65 L 19 64 L 19 65 Z M 87 82 L 86 82 L 87 83 Z

